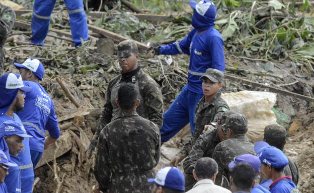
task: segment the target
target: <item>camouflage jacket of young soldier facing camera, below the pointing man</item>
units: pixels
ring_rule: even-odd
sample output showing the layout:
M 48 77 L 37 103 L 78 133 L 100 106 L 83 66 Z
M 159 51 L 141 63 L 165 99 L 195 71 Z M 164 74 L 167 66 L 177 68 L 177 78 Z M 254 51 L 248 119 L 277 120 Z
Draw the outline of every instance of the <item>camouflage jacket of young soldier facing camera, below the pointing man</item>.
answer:
M 197 138 L 202 134 L 204 126 L 220 119 L 222 113 L 229 109 L 227 102 L 221 98 L 221 93 L 218 93 L 210 103 L 205 103 L 205 97 L 202 97 L 196 106 L 195 130 L 193 136 L 178 154 L 186 157 Z

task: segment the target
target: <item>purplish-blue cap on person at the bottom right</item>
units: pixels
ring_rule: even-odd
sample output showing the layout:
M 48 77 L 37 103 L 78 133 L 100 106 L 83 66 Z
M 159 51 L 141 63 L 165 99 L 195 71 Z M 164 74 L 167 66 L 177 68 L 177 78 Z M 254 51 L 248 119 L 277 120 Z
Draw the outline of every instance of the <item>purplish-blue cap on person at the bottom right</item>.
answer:
M 243 154 L 234 157 L 233 161 L 229 163 L 229 168 L 233 168 L 235 165 L 241 162 L 246 162 L 252 165 L 254 171 L 257 173 L 261 167 L 261 161 L 258 156 L 251 154 Z

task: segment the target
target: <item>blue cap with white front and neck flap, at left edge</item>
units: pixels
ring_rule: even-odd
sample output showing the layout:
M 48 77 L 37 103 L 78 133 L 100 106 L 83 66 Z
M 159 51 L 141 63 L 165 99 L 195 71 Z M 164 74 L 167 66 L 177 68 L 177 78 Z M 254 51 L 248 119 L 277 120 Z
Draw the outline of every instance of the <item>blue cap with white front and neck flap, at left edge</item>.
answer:
M 8 111 L 19 90 L 29 92 L 32 87 L 24 86 L 21 75 L 8 73 L 0 77 L 0 114 Z

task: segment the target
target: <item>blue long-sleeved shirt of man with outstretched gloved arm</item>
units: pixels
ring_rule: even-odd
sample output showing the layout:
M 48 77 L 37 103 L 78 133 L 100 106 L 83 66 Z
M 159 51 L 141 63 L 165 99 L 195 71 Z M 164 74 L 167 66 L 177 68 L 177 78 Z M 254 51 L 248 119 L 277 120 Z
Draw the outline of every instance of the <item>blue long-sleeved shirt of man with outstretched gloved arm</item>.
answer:
M 224 71 L 223 40 L 213 27 L 198 34 L 193 29 L 181 42 L 175 42 L 160 48 L 159 54 L 190 55 L 189 71 L 205 73 L 208 68 Z M 195 73 L 194 73 L 195 74 Z M 202 80 L 199 75 L 188 74 L 188 89 L 194 93 L 203 94 Z

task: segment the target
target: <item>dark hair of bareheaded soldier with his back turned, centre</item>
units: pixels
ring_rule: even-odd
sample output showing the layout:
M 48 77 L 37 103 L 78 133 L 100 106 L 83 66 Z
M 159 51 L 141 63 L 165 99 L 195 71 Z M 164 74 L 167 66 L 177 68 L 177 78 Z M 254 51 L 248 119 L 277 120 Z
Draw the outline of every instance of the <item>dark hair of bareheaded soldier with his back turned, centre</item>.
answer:
M 130 110 L 134 107 L 138 99 L 138 90 L 131 84 L 123 84 L 118 90 L 119 105 L 122 110 Z

